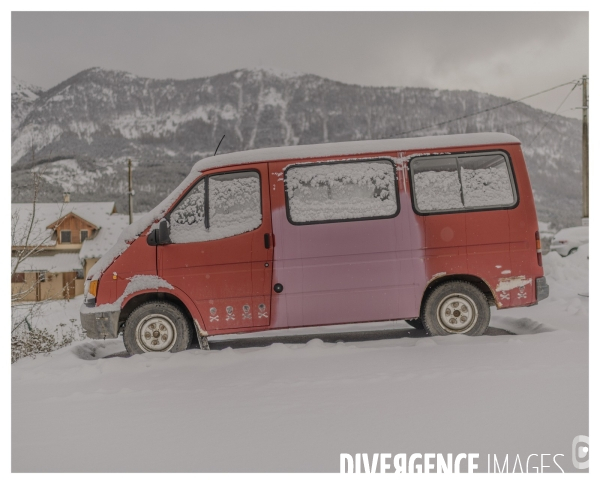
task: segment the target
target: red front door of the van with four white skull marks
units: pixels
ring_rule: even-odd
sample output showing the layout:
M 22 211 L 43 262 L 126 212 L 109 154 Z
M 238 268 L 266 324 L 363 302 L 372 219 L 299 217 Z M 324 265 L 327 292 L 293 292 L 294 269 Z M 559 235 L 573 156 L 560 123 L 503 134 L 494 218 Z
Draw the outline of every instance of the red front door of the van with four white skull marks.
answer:
M 271 207 L 267 164 L 207 172 L 169 214 L 159 275 L 196 304 L 211 334 L 269 325 Z

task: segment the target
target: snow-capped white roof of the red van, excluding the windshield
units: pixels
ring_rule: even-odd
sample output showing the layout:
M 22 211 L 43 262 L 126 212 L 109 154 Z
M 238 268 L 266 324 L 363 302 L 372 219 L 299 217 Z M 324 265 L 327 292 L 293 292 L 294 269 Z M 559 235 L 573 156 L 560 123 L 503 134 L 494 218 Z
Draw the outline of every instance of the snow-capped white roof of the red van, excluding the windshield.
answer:
M 364 153 L 384 153 L 388 151 L 439 150 L 455 148 L 457 146 L 485 146 L 514 143 L 520 143 L 520 141 L 514 136 L 505 133 L 470 133 L 423 136 L 420 138 L 282 146 L 210 156 L 198 161 L 194 165 L 194 171 L 204 171 L 221 166 L 256 163 L 260 161 L 299 160 L 328 156 L 353 156 Z

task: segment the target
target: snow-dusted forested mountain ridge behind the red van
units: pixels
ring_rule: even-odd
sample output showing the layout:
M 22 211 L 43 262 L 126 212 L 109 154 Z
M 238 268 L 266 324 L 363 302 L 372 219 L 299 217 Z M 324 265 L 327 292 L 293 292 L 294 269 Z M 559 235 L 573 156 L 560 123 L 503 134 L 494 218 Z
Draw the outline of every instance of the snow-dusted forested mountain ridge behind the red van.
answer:
M 21 84 L 19 84 L 21 85 Z M 23 86 L 25 86 L 23 84 Z M 14 91 L 14 83 L 13 83 Z M 540 218 L 577 223 L 581 211 L 581 126 L 522 103 L 408 134 L 507 102 L 474 91 L 343 84 L 310 74 L 236 70 L 157 80 L 99 68 L 40 92 L 13 92 L 13 199 L 26 201 L 28 170 L 42 198 L 126 205 L 127 158 L 135 165 L 135 209 L 149 210 L 198 158 L 267 146 L 502 131 L 523 142 Z M 31 95 L 29 95 L 31 93 Z M 35 98 L 33 96 L 36 96 Z M 25 187 L 25 188 L 24 188 Z

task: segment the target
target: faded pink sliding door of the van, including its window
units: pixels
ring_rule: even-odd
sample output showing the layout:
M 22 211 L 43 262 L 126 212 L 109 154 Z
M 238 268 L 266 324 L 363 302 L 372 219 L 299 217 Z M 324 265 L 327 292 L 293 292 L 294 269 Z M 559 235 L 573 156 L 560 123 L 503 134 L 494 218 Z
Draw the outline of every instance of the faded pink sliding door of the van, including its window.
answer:
M 277 162 L 269 171 L 274 327 L 396 319 L 415 310 L 393 161 Z

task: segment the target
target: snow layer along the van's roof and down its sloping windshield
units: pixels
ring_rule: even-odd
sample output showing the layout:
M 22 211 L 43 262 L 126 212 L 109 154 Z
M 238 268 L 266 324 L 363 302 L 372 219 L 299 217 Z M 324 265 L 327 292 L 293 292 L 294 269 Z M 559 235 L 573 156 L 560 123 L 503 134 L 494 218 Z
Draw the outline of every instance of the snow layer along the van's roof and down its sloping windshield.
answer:
M 160 204 L 121 233 L 111 249 L 90 269 L 88 279 L 100 279 L 104 271 L 119 257 L 129 245 L 153 223 L 158 222 L 179 196 L 198 178 L 203 171 L 223 166 L 256 163 L 260 161 L 300 160 L 328 156 L 352 156 L 363 153 L 384 153 L 389 151 L 436 150 L 457 146 L 484 146 L 520 141 L 505 133 L 471 133 L 420 138 L 396 138 L 385 140 L 346 141 L 342 143 L 321 143 L 316 145 L 282 146 L 257 150 L 238 151 L 210 156 L 198 161 L 190 174 Z

